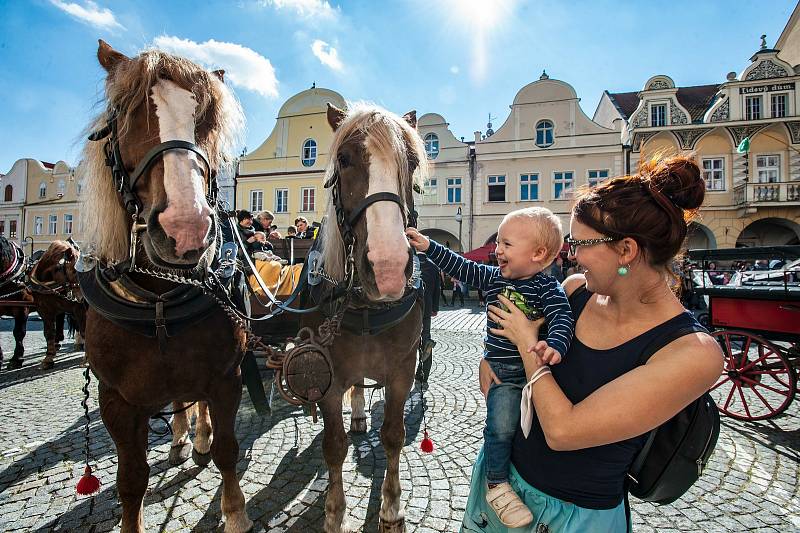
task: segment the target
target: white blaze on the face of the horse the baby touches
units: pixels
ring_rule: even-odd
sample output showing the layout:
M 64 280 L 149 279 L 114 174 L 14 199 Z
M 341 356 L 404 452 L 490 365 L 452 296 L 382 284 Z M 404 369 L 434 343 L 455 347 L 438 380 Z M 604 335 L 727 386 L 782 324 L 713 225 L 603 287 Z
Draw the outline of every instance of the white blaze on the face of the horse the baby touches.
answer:
M 367 195 L 378 192 L 400 194 L 397 169 L 385 158 L 371 154 Z M 408 264 L 409 244 L 403 227 L 403 214 L 396 203 L 383 201 L 367 207 L 366 217 L 367 259 L 372 264 L 378 292 L 381 298 L 396 300 L 405 290 Z

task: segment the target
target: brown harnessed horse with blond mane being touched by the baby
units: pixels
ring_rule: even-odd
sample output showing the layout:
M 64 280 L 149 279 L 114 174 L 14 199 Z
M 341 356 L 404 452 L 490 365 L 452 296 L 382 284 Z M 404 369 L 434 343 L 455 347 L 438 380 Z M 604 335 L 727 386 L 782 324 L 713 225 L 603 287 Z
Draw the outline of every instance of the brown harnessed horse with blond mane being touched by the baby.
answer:
M 344 112 L 328 104 L 327 119 L 334 138 L 325 174 L 331 194 L 320 253 L 325 278 L 339 280 L 344 290 L 333 301 L 318 300 L 323 308 L 338 307 L 341 317 L 341 330 L 329 347 L 332 383 L 319 401 L 329 471 L 324 530 L 350 528 L 344 520 L 342 464 L 348 444 L 342 400 L 350 391 L 351 431 L 366 431 L 363 388 L 358 385 L 368 378 L 385 387 L 381 442 L 387 469 L 379 531 L 405 531 L 399 474 L 403 408 L 414 383 L 422 331 L 422 303 L 411 286 L 414 254 L 405 227 L 415 217 L 413 189 L 427 173 L 425 148 L 415 112 L 399 117 L 367 104 Z M 309 315 L 301 323 L 319 327 L 325 316 Z

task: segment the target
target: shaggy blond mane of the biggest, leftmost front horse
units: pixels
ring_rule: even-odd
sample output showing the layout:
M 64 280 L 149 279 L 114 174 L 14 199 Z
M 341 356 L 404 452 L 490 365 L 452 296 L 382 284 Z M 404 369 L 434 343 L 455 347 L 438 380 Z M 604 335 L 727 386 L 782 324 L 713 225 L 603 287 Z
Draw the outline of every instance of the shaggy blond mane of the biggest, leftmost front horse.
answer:
M 214 74 L 189 61 L 161 50 L 145 50 L 120 61 L 106 78 L 104 109 L 86 129 L 87 135 L 106 126 L 112 111 L 117 114 L 120 142 L 133 127 L 135 111 L 150 108 L 150 90 L 160 79 L 190 87 L 197 101 L 196 124 L 208 124 L 209 133 L 197 144 L 208 155 L 217 173 L 230 168 L 244 131 L 244 115 L 236 97 Z M 150 113 L 147 113 L 148 120 Z M 150 124 L 147 124 L 150 131 Z M 155 125 L 156 132 L 158 125 Z M 156 134 L 157 135 L 157 134 Z M 79 177 L 83 178 L 83 208 L 92 216 L 81 217 L 88 251 L 106 261 L 128 255 L 130 218 L 117 196 L 111 169 L 106 166 L 105 140 L 89 141 L 83 150 Z

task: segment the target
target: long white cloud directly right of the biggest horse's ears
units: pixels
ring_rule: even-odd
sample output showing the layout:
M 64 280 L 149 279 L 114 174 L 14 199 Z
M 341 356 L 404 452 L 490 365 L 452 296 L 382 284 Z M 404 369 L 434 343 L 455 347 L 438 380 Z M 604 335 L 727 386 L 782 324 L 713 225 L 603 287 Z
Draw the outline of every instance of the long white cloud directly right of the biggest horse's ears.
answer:
M 265 98 L 278 96 L 278 79 L 269 59 L 255 50 L 236 43 L 208 40 L 196 43 L 171 35 L 153 40 L 153 45 L 167 52 L 188 57 L 209 69 L 224 69 L 225 81 L 253 91 Z

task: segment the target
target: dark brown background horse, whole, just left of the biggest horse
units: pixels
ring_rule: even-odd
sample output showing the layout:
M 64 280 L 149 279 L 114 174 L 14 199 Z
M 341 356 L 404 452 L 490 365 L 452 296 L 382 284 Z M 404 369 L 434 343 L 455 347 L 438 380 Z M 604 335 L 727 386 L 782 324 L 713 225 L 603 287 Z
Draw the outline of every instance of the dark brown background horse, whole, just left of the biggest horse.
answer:
M 78 249 L 71 243 L 53 241 L 28 275 L 28 289 L 42 318 L 47 341 L 43 370 L 53 368 L 59 343 L 64 340 L 64 318 L 67 313 L 74 319 L 77 333 L 84 333 L 86 308 L 75 271 L 78 255 Z M 75 345 L 77 348 L 77 338 Z

